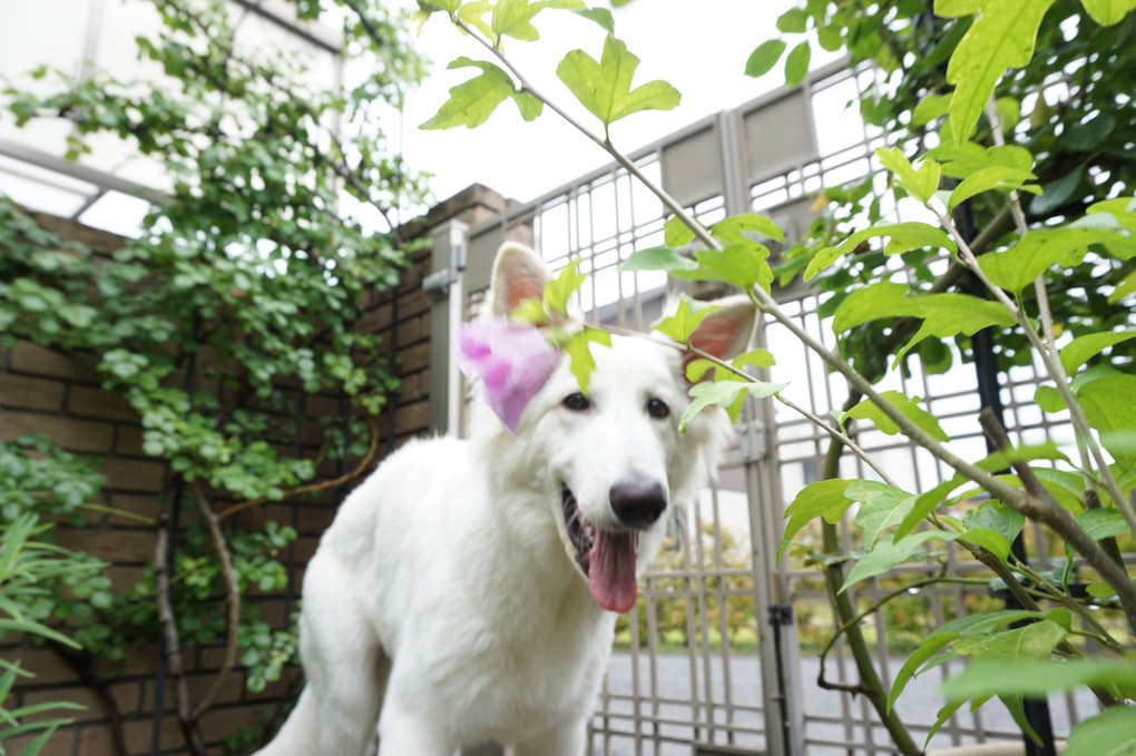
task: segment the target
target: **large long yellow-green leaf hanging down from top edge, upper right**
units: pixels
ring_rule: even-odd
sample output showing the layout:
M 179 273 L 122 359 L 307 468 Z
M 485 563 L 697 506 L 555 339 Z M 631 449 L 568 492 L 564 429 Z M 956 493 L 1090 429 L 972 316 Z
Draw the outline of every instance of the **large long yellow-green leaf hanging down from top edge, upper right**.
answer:
M 955 142 L 966 142 L 975 131 L 1002 74 L 1034 57 L 1037 30 L 1051 5 L 1053 0 L 936 0 L 939 16 L 978 14 L 946 68 L 946 81 L 955 85 L 950 109 Z

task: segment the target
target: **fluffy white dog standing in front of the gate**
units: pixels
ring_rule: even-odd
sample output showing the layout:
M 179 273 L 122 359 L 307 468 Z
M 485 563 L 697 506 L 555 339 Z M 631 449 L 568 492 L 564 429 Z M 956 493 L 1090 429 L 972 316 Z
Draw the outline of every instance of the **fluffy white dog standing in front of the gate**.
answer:
M 492 312 L 541 296 L 541 261 L 507 244 Z M 742 351 L 737 297 L 692 344 Z M 690 404 L 684 353 L 649 338 L 594 345 L 585 397 L 560 360 L 516 434 L 481 411 L 471 438 L 408 444 L 343 503 L 308 565 L 307 686 L 260 756 L 451 756 L 496 741 L 517 756 L 579 756 L 611 653 L 615 610 L 670 509 L 716 469 L 728 420 Z M 608 608 L 604 608 L 608 607 Z

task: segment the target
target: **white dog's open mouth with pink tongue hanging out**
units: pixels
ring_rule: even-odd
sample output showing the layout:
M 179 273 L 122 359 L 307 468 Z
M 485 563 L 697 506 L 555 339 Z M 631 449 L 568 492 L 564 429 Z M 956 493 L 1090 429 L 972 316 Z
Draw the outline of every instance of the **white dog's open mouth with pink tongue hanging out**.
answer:
M 562 487 L 565 524 L 576 552 L 576 563 L 587 576 L 587 587 L 595 603 L 620 614 L 635 607 L 636 530 L 602 530 L 586 521 L 576 497 Z

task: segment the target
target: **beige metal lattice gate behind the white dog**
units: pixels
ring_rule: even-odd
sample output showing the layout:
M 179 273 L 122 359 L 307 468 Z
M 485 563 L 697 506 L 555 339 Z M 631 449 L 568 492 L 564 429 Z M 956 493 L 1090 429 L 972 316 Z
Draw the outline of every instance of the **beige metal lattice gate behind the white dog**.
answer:
M 874 75 L 868 68 L 852 73 L 843 62 L 834 64 L 796 89 L 705 118 L 629 157 L 704 224 L 758 211 L 778 222 L 792 242 L 815 217 L 812 195 L 821 187 L 878 169 L 874 150 L 885 144 L 883 133 L 866 126 L 855 108 L 845 107 Z M 818 128 L 818 123 L 825 127 Z M 895 218 L 911 217 L 911 209 L 902 205 L 892 212 Z M 449 359 L 448 334 L 476 310 L 504 241 L 534 246 L 552 270 L 580 258 L 580 271 L 591 274 L 579 297 L 585 314 L 645 330 L 661 313 L 668 280 L 663 274 L 620 274 L 617 268 L 635 250 L 662 244 L 663 213 L 653 195 L 612 165 L 473 227 L 450 222 L 440 228 L 435 272 L 426 282 L 431 289 L 446 293 L 435 300 L 432 317 L 432 426 L 463 428 L 461 379 Z M 790 287 L 775 294 L 802 326 L 832 345 L 816 293 Z M 841 406 L 846 396 L 843 381 L 784 327 L 759 324 L 755 338 L 777 359 L 774 377 L 792 380 L 786 395 L 821 417 Z M 1061 428 L 1050 428 L 1029 405 L 1039 380 L 1036 371 L 1016 369 L 1003 379 L 1010 432 L 1026 442 L 1045 434 L 1061 438 Z M 927 397 L 928 409 L 955 439 L 952 448 L 972 459 L 983 454 L 972 372 L 925 376 L 913 366 L 911 377 L 893 376 L 884 388 Z M 926 490 L 946 473 L 903 439 L 869 430 L 859 442 L 901 486 Z M 616 653 L 590 724 L 591 754 L 895 751 L 863 697 L 817 682 L 813 635 L 830 636 L 834 628 L 830 612 L 826 614 L 822 573 L 775 560 L 785 506 L 817 479 L 827 444 L 826 434 L 780 405 L 766 401 L 745 408 L 718 485 L 675 524 L 674 538 L 641 582 L 636 611 L 619 624 Z M 841 474 L 869 478 L 870 471 L 861 468 L 855 457 L 844 459 Z M 842 538 L 851 547 L 846 528 Z M 954 574 L 982 569 L 953 548 L 949 558 Z M 932 569 L 908 565 L 899 572 Z M 857 600 L 870 605 L 893 590 L 893 582 L 894 576 L 872 580 L 860 587 Z M 984 598 L 985 589 L 955 586 L 924 589 L 910 600 L 918 605 L 913 614 L 929 614 L 937 624 Z M 900 661 L 888 646 L 885 616 L 876 611 L 866 622 L 875 636 L 880 677 L 888 683 Z M 926 675 L 934 679 L 917 679 L 900 699 L 900 714 L 917 740 L 935 721 L 942 705 L 935 688 L 951 671 L 947 664 Z M 855 680 L 841 644 L 825 675 L 836 686 Z M 1071 722 L 1095 707 L 1095 699 L 1062 702 L 1054 712 L 1054 730 L 1059 736 L 1068 732 Z M 1020 742 L 1009 714 L 987 706 L 952 716 L 932 746 L 995 739 Z

